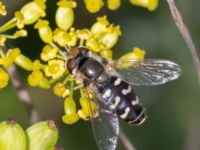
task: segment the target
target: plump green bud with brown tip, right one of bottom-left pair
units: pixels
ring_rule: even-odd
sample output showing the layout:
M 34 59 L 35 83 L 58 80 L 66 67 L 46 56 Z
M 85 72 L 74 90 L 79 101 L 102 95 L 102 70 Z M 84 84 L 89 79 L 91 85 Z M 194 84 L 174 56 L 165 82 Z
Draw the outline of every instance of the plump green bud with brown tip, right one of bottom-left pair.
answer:
M 58 129 L 54 121 L 42 121 L 29 127 L 29 150 L 53 150 L 58 140 Z

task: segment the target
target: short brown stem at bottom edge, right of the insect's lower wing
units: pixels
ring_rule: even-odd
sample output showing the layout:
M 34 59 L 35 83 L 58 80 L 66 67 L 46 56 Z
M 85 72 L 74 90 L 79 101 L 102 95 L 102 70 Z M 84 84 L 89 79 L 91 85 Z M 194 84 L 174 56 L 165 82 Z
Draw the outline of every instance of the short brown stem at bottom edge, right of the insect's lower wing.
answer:
M 122 129 L 119 131 L 119 139 L 122 141 L 124 147 L 127 150 L 136 150 L 135 146 L 132 144 Z

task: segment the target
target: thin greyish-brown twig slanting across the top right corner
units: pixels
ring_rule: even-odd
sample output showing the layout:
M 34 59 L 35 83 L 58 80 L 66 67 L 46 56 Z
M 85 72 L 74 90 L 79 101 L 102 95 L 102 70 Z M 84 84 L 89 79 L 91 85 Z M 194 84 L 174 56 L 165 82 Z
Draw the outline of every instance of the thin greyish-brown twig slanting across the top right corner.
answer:
M 189 52 L 190 52 L 192 59 L 193 59 L 193 63 L 195 65 L 195 69 L 196 69 L 199 84 L 200 84 L 200 58 L 199 58 L 198 51 L 197 51 L 195 44 L 192 40 L 190 32 L 189 32 L 187 26 L 185 25 L 185 23 L 183 21 L 183 17 L 182 17 L 180 11 L 178 10 L 178 8 L 176 6 L 175 0 L 167 0 L 167 2 L 169 4 L 169 8 L 171 10 L 171 14 L 172 14 L 172 17 L 174 19 L 174 22 L 175 22 L 179 32 L 181 33 L 183 39 L 185 40 L 185 42 L 188 46 Z

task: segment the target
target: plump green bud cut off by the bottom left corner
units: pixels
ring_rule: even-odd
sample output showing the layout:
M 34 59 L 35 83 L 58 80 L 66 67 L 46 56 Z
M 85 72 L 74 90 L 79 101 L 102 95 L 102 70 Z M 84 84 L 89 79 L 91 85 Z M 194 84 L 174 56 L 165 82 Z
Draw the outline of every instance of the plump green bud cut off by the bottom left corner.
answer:
M 0 123 L 0 150 L 26 150 L 26 136 L 14 120 Z

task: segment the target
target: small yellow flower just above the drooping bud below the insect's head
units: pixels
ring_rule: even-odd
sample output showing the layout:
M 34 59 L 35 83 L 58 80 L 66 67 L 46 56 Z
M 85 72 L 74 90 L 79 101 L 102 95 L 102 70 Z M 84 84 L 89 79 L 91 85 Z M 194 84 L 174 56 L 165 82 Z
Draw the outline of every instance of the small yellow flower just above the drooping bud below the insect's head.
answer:
M 58 97 L 66 97 L 70 94 L 70 90 L 65 87 L 61 82 L 56 83 L 56 85 L 53 87 L 53 92 Z

